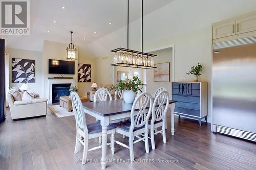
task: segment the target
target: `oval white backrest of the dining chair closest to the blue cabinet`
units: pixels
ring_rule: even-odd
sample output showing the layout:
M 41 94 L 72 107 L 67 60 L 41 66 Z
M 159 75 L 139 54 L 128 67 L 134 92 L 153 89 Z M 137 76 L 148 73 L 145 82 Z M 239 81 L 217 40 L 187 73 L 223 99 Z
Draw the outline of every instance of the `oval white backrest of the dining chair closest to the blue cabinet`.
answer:
M 168 91 L 161 91 L 157 94 L 153 107 L 152 107 L 152 119 L 151 125 L 154 125 L 155 121 L 163 120 L 165 122 L 166 113 L 169 105 L 169 93 Z

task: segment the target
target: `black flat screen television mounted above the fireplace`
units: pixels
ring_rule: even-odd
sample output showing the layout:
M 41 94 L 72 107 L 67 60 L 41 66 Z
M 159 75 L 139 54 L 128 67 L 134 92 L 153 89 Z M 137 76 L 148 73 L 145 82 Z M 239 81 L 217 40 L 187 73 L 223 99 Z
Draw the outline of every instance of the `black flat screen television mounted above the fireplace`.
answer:
M 74 75 L 75 62 L 49 59 L 49 74 Z

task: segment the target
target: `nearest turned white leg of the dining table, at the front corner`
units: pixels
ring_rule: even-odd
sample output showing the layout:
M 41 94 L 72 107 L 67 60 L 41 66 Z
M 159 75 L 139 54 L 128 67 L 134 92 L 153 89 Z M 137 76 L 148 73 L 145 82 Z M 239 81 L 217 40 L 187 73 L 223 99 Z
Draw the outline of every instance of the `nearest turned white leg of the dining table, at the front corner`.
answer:
M 104 117 L 100 120 L 100 125 L 102 127 L 102 136 L 101 136 L 101 169 L 106 168 L 106 142 L 108 139 L 107 127 L 109 126 L 109 118 Z

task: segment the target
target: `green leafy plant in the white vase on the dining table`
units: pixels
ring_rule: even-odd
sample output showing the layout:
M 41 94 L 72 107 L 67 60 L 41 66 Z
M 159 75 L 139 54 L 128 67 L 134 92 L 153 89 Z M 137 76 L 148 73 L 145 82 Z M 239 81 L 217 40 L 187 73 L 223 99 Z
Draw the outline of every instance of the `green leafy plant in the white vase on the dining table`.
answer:
M 116 86 L 111 86 L 108 88 L 109 91 L 112 90 L 132 90 L 133 92 L 135 92 L 136 94 L 139 91 L 140 86 L 142 86 L 143 83 L 142 81 L 139 79 L 138 76 L 134 76 L 132 80 L 130 79 L 126 79 L 125 81 L 120 80 L 119 83 Z M 141 87 L 143 88 L 143 87 Z

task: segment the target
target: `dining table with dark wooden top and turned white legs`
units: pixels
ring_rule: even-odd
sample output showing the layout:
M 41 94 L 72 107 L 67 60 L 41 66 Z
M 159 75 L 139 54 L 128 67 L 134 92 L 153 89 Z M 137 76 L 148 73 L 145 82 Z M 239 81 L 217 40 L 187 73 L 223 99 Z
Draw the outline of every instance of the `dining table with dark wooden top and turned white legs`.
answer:
M 174 135 L 174 109 L 175 100 L 169 100 L 170 108 L 170 132 Z M 106 167 L 106 147 L 107 147 L 107 127 L 110 125 L 111 121 L 129 118 L 131 117 L 131 110 L 133 103 L 125 103 L 123 100 L 111 100 L 102 102 L 85 102 L 82 103 L 84 112 L 89 114 L 98 120 L 100 120 L 100 125 L 102 127 L 101 136 L 101 169 Z M 139 108 L 136 107 L 135 111 Z

